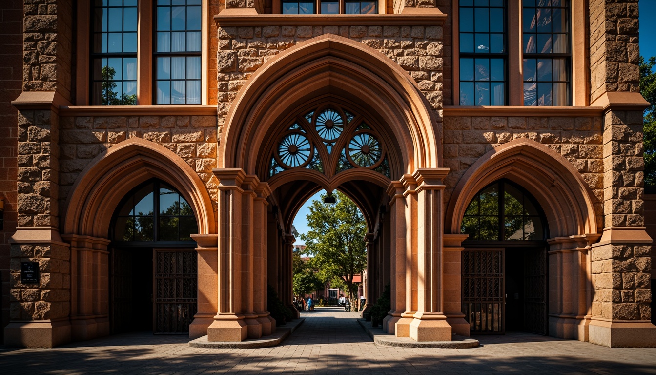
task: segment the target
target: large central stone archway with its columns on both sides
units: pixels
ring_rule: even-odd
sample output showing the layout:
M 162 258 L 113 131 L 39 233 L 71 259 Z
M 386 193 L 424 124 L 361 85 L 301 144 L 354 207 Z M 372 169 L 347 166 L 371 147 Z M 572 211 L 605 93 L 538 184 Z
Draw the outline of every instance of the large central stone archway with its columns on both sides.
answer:
M 331 101 L 352 102 L 384 127 L 388 154 L 394 158 L 389 177 L 380 179 L 356 169 L 335 176 L 302 171 L 288 173 L 285 179 L 269 179 L 261 167 L 269 160 L 263 162 L 262 154 L 269 157 L 266 150 L 271 150 L 285 117 L 298 108 Z M 291 235 L 289 220 L 271 225 L 267 217 L 277 221 L 278 207 L 287 204 L 274 190 L 305 178 L 329 189 L 353 181 L 370 181 L 380 187 L 386 207 L 380 212 L 388 213 L 384 236 L 376 235 L 377 220 L 371 220 L 379 217 L 379 210 L 367 215 L 370 248 L 378 240 L 381 249 L 388 248 L 390 259 L 392 311 L 385 329 L 419 341 L 450 341 L 451 326 L 442 313 L 441 295 L 442 179 L 447 169 L 440 168 L 437 123 L 433 108 L 407 72 L 379 51 L 337 35 L 298 43 L 249 77 L 226 116 L 215 169 L 220 185 L 219 309 L 208 328 L 208 340 L 239 341 L 274 329 L 265 310 L 266 298 L 262 298 L 267 283 L 266 249 L 278 246 L 290 254 L 282 261 L 291 261 Z M 291 292 L 291 282 L 283 284 Z M 234 294 L 234 290 L 242 293 Z

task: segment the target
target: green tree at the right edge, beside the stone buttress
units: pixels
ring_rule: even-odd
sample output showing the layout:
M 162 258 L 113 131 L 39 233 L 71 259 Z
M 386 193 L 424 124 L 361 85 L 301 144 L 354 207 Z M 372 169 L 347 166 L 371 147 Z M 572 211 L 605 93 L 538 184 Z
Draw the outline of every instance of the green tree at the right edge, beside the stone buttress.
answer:
M 645 185 L 656 186 L 656 58 L 640 56 L 640 93 L 649 102 L 644 113 Z

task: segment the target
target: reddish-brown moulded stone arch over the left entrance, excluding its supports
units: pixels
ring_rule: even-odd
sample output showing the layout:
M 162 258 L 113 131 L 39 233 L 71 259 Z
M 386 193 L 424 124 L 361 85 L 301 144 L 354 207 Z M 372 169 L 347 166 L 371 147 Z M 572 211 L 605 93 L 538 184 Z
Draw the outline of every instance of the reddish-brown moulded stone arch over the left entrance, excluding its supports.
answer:
M 199 234 L 216 232 L 212 200 L 194 169 L 168 148 L 134 137 L 96 156 L 77 177 L 66 201 L 64 233 L 106 238 L 119 202 L 153 178 L 184 196 L 194 210 Z

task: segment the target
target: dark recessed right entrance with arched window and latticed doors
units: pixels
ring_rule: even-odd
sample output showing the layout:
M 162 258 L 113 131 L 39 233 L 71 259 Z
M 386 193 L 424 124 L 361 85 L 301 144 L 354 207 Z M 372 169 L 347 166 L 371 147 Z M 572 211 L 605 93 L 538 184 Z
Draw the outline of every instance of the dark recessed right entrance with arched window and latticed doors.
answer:
M 510 181 L 483 188 L 462 220 L 462 312 L 472 334 L 547 334 L 543 211 Z

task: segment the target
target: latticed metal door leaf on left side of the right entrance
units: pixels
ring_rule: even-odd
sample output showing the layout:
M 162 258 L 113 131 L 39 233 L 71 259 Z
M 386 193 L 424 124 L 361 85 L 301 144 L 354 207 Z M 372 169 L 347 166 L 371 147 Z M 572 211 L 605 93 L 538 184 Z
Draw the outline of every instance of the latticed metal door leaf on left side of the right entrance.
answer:
M 504 249 L 462 252 L 462 312 L 472 334 L 504 333 Z

